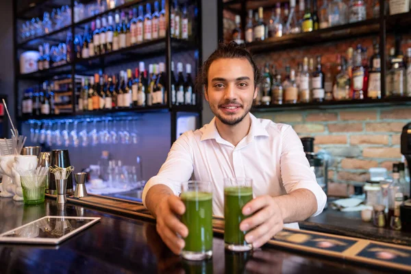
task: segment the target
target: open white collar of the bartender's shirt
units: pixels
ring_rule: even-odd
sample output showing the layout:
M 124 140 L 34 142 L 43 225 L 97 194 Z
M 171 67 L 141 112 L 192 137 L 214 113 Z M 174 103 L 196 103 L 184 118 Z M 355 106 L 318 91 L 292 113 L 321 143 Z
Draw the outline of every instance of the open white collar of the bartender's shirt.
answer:
M 254 116 L 253 114 L 249 114 L 251 118 L 251 127 L 249 130 L 249 134 L 245 138 L 248 141 L 251 141 L 256 136 L 269 136 L 269 133 L 266 129 L 261 125 L 260 121 Z M 201 131 L 203 132 L 203 136 L 201 136 L 201 141 L 215 139 L 217 142 L 227 142 L 223 138 L 221 138 L 219 131 L 216 127 L 216 117 L 212 119 L 212 121 L 205 125 Z

